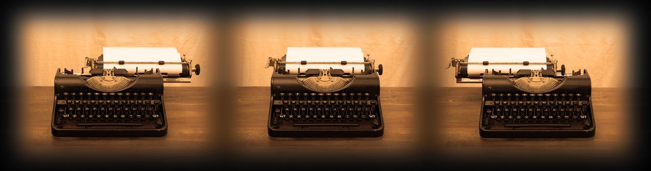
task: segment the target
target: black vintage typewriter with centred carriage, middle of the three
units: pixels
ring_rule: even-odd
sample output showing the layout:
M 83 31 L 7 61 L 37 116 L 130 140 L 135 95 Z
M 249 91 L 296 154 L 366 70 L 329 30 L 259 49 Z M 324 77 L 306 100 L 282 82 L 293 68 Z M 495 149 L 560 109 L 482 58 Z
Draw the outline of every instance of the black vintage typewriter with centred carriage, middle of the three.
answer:
M 273 67 L 271 137 L 381 137 L 382 65 L 359 47 L 288 47 Z

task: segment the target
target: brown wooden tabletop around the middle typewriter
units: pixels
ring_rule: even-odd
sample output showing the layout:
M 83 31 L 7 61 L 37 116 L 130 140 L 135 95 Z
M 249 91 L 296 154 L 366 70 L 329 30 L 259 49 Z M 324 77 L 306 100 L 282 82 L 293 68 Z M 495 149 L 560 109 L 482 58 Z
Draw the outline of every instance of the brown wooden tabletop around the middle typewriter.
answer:
M 269 87 L 244 87 L 236 101 L 236 144 L 245 155 L 299 159 L 309 157 L 406 155 L 414 150 L 413 93 L 409 88 L 381 88 L 385 132 L 378 138 L 273 138 L 267 133 Z

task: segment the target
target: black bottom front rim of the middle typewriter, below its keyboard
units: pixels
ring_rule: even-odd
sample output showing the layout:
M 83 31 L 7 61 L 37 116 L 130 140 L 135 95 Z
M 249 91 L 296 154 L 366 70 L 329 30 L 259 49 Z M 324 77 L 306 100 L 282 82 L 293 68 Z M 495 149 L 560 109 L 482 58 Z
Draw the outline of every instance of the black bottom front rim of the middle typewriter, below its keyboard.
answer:
M 371 130 L 268 128 L 268 133 L 270 137 L 382 137 L 384 127 Z

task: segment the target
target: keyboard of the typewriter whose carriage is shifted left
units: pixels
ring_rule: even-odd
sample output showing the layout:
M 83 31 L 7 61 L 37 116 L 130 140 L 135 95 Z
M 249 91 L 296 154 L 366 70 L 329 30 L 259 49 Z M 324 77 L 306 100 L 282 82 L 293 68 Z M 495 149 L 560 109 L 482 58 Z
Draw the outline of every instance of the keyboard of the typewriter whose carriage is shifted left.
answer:
M 589 96 L 582 94 L 489 94 L 482 125 L 490 129 L 586 129 Z

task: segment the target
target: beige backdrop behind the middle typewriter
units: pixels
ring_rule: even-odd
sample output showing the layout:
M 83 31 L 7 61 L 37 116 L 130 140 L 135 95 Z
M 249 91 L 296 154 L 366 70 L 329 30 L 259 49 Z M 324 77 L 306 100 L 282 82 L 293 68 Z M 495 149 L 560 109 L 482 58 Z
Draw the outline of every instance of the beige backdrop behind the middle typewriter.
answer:
M 287 47 L 361 47 L 383 64 L 381 86 L 411 86 L 409 75 L 413 31 L 405 18 L 346 16 L 244 17 L 238 25 L 238 86 L 270 86 L 268 57 L 285 55 Z

